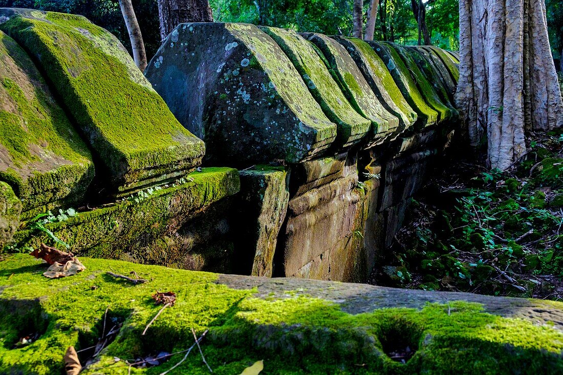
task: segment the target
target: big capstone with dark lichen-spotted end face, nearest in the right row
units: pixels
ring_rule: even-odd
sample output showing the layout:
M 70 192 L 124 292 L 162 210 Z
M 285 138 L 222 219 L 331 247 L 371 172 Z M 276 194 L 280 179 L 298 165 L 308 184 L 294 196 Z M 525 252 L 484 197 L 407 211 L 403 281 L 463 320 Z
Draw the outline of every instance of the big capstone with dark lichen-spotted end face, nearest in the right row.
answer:
M 297 163 L 337 135 L 285 53 L 253 25 L 178 25 L 146 77 L 180 122 L 205 140 L 212 162 Z

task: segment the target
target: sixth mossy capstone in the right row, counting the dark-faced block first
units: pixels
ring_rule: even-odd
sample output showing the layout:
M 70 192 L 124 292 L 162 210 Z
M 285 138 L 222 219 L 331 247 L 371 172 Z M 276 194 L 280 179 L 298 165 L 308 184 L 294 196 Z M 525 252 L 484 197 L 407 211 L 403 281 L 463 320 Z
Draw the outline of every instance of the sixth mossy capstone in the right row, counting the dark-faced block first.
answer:
M 428 82 L 426 75 L 421 72 L 414 59 L 406 51 L 405 47 L 398 44 L 386 42 L 384 43 L 388 48 L 393 48 L 403 60 L 406 68 L 409 70 L 410 75 L 417 84 L 418 90 L 424 93 L 424 99 L 434 109 L 439 117 L 438 122 L 452 123 L 458 119 L 458 112 L 450 104 L 449 100 L 442 101 L 438 90 L 435 90 L 434 85 Z M 437 81 L 439 83 L 439 81 Z

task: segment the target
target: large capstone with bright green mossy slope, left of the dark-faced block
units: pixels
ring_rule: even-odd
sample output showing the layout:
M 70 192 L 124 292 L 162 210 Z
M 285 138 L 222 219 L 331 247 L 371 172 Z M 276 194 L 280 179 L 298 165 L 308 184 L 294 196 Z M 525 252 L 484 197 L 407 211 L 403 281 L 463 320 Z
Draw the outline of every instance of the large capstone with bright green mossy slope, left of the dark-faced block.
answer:
M 32 57 L 101 161 L 126 191 L 179 176 L 204 144 L 177 122 L 118 39 L 82 16 L 2 8 L 5 33 Z M 109 184 L 108 184 L 109 182 Z

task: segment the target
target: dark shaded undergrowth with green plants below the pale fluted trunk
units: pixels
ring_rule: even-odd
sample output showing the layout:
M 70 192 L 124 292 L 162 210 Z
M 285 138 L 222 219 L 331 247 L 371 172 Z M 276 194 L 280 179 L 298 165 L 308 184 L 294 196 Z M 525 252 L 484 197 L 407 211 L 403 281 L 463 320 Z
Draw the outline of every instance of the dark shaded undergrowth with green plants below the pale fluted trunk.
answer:
M 413 199 L 370 282 L 563 298 L 563 136 L 534 134 L 507 171 L 451 158 Z

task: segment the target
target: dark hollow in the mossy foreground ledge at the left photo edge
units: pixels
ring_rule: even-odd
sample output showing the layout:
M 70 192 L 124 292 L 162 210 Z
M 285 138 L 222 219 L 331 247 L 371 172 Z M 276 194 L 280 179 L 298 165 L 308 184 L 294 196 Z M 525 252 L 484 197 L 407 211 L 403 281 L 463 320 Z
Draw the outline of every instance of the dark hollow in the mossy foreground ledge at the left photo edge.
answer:
M 49 324 L 41 303 L 36 300 L 0 299 L 0 341 L 6 349 L 19 349 L 38 340 Z

